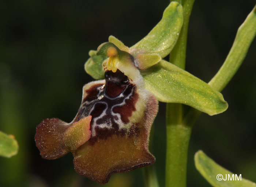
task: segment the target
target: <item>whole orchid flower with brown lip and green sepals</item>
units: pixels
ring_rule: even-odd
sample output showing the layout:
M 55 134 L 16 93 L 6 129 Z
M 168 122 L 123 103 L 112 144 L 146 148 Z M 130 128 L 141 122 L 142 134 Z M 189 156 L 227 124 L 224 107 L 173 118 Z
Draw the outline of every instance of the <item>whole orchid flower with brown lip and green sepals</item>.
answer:
M 183 22 L 182 6 L 172 2 L 162 20 L 132 47 L 110 36 L 90 51 L 82 104 L 74 120 L 44 119 L 35 141 L 44 159 L 71 152 L 75 171 L 100 184 L 117 172 L 151 165 L 148 150 L 158 101 L 183 103 L 209 115 L 227 108 L 221 93 L 162 60 L 173 49 Z

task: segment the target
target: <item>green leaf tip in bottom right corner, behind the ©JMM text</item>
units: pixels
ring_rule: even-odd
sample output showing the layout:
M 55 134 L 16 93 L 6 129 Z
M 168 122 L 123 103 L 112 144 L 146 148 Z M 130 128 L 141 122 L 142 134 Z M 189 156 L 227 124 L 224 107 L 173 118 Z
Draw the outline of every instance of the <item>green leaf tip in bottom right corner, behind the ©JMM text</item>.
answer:
M 234 175 L 234 173 L 231 173 L 230 171 L 221 167 L 220 165 L 215 163 L 212 159 L 210 159 L 206 154 L 204 154 L 202 150 L 199 150 L 195 154 L 195 165 L 196 165 L 196 169 L 200 172 L 200 174 L 204 177 L 204 179 L 206 179 L 214 187 L 255 187 L 256 186 L 255 183 L 249 180 L 246 180 L 244 178 L 241 178 L 240 174 L 237 173 L 237 176 L 236 176 Z M 222 176 L 223 176 L 223 179 L 226 179 L 226 180 L 223 180 Z M 217 177 L 219 180 L 217 180 Z

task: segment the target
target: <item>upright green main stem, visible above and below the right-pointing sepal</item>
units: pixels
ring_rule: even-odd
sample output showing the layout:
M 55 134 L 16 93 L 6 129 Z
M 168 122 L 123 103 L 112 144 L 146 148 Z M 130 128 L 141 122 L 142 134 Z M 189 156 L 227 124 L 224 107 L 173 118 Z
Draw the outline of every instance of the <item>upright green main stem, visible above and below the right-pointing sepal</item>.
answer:
M 194 0 L 180 0 L 183 5 L 183 26 L 172 52 L 170 62 L 185 69 L 188 22 Z M 166 166 L 165 186 L 185 187 L 187 181 L 187 154 L 191 125 L 182 123 L 183 105 L 166 104 Z

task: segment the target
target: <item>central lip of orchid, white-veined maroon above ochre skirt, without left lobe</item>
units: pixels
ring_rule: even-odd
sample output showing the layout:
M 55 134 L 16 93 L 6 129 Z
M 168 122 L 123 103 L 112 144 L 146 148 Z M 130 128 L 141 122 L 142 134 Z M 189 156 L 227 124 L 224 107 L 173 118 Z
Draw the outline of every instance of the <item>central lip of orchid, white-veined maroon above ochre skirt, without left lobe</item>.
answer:
M 94 99 L 88 101 L 91 94 Z M 117 69 L 106 70 L 105 81 L 86 85 L 84 96 L 78 113 L 92 115 L 92 135 L 73 153 L 76 172 L 105 184 L 113 173 L 154 163 L 148 151 L 148 133 L 158 109 L 153 95 Z

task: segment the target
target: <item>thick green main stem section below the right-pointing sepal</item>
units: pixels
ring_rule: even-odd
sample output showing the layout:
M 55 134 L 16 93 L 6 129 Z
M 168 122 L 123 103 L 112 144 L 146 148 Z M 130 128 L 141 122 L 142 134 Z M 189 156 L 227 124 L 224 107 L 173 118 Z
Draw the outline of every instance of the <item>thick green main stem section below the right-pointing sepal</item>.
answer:
M 187 154 L 192 126 L 182 123 L 182 110 L 182 104 L 167 103 L 166 187 L 186 186 Z

